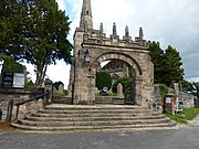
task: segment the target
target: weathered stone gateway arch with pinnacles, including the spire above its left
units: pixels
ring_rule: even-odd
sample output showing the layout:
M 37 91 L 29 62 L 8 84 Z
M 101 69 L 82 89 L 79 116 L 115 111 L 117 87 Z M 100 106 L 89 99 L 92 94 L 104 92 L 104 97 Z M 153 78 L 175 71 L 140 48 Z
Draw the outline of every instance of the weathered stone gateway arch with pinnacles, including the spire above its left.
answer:
M 134 104 L 146 105 L 154 97 L 154 65 L 148 55 L 147 41 L 143 29 L 135 40 L 129 35 L 128 26 L 123 39 L 117 35 L 116 24 L 113 34 L 106 36 L 103 23 L 100 29 L 93 29 L 91 0 L 83 0 L 80 26 L 74 33 L 74 62 L 70 72 L 69 93 L 73 104 L 95 104 L 95 75 L 104 61 L 118 60 L 133 72 Z

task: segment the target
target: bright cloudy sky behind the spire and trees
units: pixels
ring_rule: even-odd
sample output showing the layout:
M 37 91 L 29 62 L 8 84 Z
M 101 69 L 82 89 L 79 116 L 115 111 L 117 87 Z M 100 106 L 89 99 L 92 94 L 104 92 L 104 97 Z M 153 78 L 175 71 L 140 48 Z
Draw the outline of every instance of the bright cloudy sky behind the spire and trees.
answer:
M 73 43 L 75 28 L 80 25 L 83 0 L 56 0 L 59 8 L 70 17 Z M 113 23 L 117 34 L 124 35 L 128 25 L 133 39 L 138 30 L 144 29 L 144 36 L 149 41 L 160 42 L 161 49 L 176 47 L 182 57 L 185 78 L 199 81 L 199 0 L 92 0 L 94 29 L 104 24 L 104 32 L 109 36 Z M 32 72 L 33 66 L 28 65 Z M 69 84 L 70 65 L 62 61 L 48 68 L 48 77 L 53 82 Z M 32 78 L 35 76 L 32 73 Z

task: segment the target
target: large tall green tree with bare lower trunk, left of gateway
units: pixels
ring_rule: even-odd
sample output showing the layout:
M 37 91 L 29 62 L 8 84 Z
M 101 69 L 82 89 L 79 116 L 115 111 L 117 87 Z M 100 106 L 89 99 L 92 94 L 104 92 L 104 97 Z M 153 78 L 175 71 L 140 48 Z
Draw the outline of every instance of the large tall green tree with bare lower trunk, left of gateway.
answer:
M 0 53 L 34 65 L 35 86 L 41 87 L 48 65 L 72 61 L 69 17 L 55 0 L 2 0 L 0 4 L 0 25 L 7 29 L 0 34 Z

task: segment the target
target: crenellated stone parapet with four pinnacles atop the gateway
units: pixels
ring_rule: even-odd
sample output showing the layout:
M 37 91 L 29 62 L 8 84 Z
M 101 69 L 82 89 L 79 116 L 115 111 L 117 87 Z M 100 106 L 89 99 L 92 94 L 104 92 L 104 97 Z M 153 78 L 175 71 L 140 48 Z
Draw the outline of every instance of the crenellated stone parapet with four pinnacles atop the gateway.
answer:
M 139 28 L 139 35 L 132 39 L 129 35 L 128 26 L 125 28 L 125 32 L 123 39 L 119 39 L 117 34 L 116 24 L 113 24 L 113 33 L 106 38 L 104 33 L 103 23 L 100 25 L 100 30 L 88 29 L 86 25 L 83 28 L 77 28 L 76 32 L 83 32 L 83 42 L 84 43 L 92 43 L 92 44 L 101 44 L 101 45 L 113 45 L 113 46 L 124 46 L 124 47 L 135 47 L 135 49 L 143 49 L 147 50 L 147 41 L 144 40 L 143 29 Z

